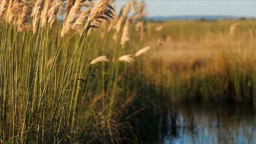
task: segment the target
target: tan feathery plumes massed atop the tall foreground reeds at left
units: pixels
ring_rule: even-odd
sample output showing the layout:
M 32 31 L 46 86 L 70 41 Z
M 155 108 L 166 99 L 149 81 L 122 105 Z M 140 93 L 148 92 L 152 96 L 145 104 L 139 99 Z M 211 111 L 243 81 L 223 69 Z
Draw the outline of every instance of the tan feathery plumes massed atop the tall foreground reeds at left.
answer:
M 33 27 L 33 33 L 36 33 L 39 20 L 41 27 L 45 27 L 47 23 L 53 27 L 65 4 L 64 26 L 61 31 L 63 37 L 71 28 L 81 30 L 85 27 L 88 31 L 91 27 L 98 28 L 97 23 L 101 19 L 109 21 L 114 15 L 114 8 L 110 5 L 112 1 L 99 0 L 94 6 L 89 0 L 66 0 L 65 3 L 63 0 L 37 0 L 34 3 L 29 0 L 4 0 L 0 4 L 0 16 L 2 18 L 5 15 L 9 23 L 17 23 L 19 32 Z M 82 10 L 84 7 L 88 9 Z

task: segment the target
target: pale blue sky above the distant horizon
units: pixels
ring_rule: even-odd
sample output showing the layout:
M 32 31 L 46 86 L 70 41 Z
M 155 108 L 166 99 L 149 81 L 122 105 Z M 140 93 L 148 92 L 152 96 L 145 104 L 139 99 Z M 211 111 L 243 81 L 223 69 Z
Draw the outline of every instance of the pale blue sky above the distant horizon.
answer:
M 127 0 L 117 0 L 117 7 Z M 256 0 L 145 0 L 149 16 L 229 15 L 256 17 Z

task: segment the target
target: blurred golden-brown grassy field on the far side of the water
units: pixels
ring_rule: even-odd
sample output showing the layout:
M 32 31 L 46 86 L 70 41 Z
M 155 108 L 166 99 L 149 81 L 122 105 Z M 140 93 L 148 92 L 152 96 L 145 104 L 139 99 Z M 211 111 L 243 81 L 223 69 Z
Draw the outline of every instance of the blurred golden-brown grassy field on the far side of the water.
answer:
M 236 23 L 232 33 L 230 27 Z M 164 25 L 160 38 L 155 37 L 155 56 L 162 61 L 164 81 L 159 82 L 168 89 L 165 95 L 172 101 L 197 97 L 205 102 L 253 103 L 255 24 L 255 20 L 150 23 Z

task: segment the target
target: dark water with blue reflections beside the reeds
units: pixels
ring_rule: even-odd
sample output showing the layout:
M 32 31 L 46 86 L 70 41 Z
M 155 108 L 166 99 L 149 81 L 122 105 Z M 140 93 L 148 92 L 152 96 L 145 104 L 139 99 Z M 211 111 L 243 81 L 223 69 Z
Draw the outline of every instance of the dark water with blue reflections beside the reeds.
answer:
M 164 144 L 256 144 L 256 110 L 248 105 L 178 106 Z

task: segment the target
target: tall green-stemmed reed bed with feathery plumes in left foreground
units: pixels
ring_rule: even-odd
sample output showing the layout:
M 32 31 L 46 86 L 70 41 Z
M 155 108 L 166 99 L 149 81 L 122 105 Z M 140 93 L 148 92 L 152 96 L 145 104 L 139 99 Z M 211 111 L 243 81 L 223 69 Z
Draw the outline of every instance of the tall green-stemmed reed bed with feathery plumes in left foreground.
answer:
M 143 45 L 128 44 L 127 34 L 126 43 L 111 37 L 116 29 L 108 31 L 104 25 L 114 25 L 112 19 L 118 18 L 113 3 L 1 1 L 1 144 L 140 141 L 131 124 L 144 106 L 131 108 L 137 92 L 125 77 Z M 130 8 L 135 4 L 128 3 Z M 127 21 L 135 24 L 142 18 Z M 125 30 L 119 29 L 129 30 L 127 24 Z M 128 49 L 128 45 L 136 47 Z M 133 81 L 136 77 L 129 76 Z

